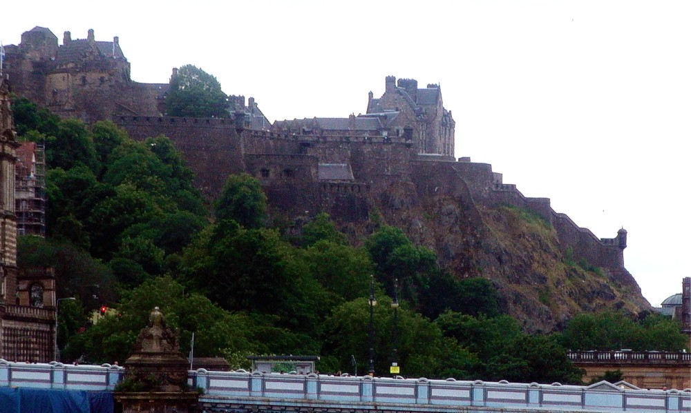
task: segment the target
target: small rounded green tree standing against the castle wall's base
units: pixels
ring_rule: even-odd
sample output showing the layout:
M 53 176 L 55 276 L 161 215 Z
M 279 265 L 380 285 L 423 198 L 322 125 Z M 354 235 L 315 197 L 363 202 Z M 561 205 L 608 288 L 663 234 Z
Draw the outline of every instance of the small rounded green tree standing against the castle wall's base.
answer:
M 261 183 L 244 173 L 228 177 L 214 208 L 219 221 L 233 219 L 245 228 L 260 228 L 267 217 Z

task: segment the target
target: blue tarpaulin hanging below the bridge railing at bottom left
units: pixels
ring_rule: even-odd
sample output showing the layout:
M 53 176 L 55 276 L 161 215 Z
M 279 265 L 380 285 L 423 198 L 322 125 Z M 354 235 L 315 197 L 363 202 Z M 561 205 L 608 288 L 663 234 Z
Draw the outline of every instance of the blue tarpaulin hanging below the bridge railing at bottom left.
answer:
M 0 387 L 0 413 L 113 413 L 111 392 Z

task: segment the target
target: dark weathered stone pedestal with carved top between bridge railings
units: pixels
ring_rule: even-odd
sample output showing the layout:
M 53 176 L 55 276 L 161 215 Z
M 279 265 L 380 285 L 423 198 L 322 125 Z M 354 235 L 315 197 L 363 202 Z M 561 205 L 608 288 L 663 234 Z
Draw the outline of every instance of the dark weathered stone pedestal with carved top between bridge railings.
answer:
M 158 307 L 124 367 L 124 381 L 113 394 L 123 413 L 198 412 L 199 394 L 187 385 L 189 361 L 180 355 L 178 337 L 166 326 Z

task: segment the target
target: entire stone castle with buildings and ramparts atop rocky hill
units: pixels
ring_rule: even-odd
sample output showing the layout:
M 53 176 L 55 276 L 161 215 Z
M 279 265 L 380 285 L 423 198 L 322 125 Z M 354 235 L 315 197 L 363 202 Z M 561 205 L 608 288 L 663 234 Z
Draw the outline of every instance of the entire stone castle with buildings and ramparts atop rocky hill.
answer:
M 86 40 L 66 32 L 57 46 L 50 30 L 34 28 L 7 50 L 7 72 L 18 94 L 61 117 L 110 119 L 133 139 L 164 134 L 209 199 L 228 174 L 247 172 L 261 181 L 276 219 L 325 211 L 357 238 L 371 232 L 372 216 L 381 216 L 433 248 L 442 265 L 462 276 L 482 276 L 481 265 L 466 252 L 489 231 L 487 208 L 513 205 L 542 216 L 558 234 L 562 252 L 603 268 L 612 285 L 630 292 L 625 295 L 634 308 L 650 306 L 624 268 L 625 230 L 598 239 L 552 210 L 549 199 L 524 197 L 503 183 L 491 165 L 454 158 L 455 121 L 439 85 L 418 88 L 415 79 L 388 76 L 381 97 L 369 92 L 364 114 L 269 127 L 254 99 L 245 106 L 244 97 L 232 97 L 236 110 L 228 119 L 165 116 L 168 85 L 131 81 L 118 39 L 95 41 L 91 30 Z M 488 251 L 478 260 L 500 264 L 502 258 Z

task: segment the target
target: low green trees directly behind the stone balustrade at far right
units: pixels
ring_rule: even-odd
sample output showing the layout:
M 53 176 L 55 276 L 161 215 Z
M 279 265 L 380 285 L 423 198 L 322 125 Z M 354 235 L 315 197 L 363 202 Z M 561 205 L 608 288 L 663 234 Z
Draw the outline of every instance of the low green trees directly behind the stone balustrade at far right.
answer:
M 623 312 L 599 312 L 574 316 L 560 338 L 571 350 L 620 350 L 678 352 L 688 345 L 676 320 L 650 314 L 641 321 Z

